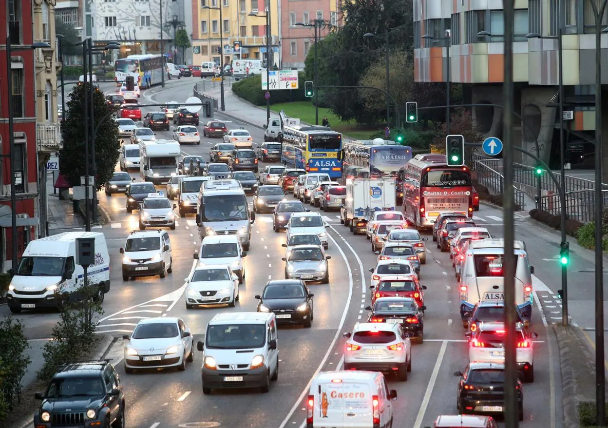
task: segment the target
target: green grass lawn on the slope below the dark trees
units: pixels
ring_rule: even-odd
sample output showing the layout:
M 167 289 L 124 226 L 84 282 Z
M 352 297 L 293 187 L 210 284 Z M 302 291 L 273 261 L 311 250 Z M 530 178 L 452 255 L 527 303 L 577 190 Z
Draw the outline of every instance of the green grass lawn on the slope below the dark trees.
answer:
M 311 102 L 297 101 L 291 103 L 278 103 L 271 105 L 271 109 L 277 113 L 281 110 L 285 110 L 287 116 L 314 125 L 314 105 Z M 356 123 L 342 123 L 340 122 L 340 119 L 334 116 L 334 114 L 326 108 L 319 108 L 319 125 L 323 120 L 323 116 L 327 116 L 327 119 L 330 120 L 331 129 L 355 140 L 368 140 L 371 134 L 380 129 L 374 126 L 357 125 Z

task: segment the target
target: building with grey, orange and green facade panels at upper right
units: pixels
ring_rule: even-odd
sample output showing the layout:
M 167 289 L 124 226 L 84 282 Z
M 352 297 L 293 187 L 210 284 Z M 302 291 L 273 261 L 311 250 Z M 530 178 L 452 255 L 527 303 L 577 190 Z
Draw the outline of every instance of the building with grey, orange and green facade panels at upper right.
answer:
M 463 84 L 467 103 L 500 105 L 502 7 L 501 0 L 414 0 L 415 80 L 445 81 L 449 64 L 451 81 Z M 555 105 L 561 96 L 565 103 L 581 103 L 592 102 L 595 94 L 593 9 L 589 0 L 516 0 L 515 8 L 514 88 L 516 113 L 522 117 L 515 138 L 521 147 L 539 150 L 545 162 L 559 168 L 559 112 Z M 607 22 L 604 16 L 602 28 Z M 558 91 L 556 36 L 560 27 L 564 94 Z M 479 36 L 482 31 L 490 35 Z M 553 38 L 527 38 L 530 33 Z M 423 35 L 432 39 L 423 39 Z M 607 35 L 602 37 L 608 41 Z M 446 42 L 451 42 L 447 59 Z M 608 83 L 607 67 L 603 67 L 602 80 Z M 565 110 L 566 163 L 572 168 L 593 168 L 595 108 L 579 104 Z M 500 108 L 474 108 L 473 117 L 486 136 L 500 137 Z M 531 163 L 525 158 L 522 162 Z

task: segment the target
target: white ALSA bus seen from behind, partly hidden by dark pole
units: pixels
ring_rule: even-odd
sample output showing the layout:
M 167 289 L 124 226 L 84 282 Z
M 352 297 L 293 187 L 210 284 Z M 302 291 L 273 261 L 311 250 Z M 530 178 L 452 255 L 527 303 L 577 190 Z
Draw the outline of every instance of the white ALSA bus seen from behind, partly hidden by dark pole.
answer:
M 532 315 L 532 274 L 523 241 L 514 241 L 517 258 L 515 270 L 515 302 L 525 323 Z M 505 300 L 503 260 L 505 240 L 471 241 L 466 250 L 460 275 L 460 317 L 468 325 L 471 312 L 481 300 Z

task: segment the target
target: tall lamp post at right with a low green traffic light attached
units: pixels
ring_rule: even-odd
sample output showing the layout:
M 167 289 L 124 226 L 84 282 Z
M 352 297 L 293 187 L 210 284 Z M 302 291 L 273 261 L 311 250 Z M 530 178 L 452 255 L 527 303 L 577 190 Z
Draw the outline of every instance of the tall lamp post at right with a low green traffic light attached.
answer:
M 563 47 L 562 47 L 562 26 L 559 26 L 558 34 L 555 36 L 541 36 L 539 33 L 528 33 L 526 35 L 528 39 L 539 38 L 539 39 L 557 39 L 558 40 L 558 63 L 559 63 L 559 173 L 561 178 L 561 200 L 565 202 L 565 143 L 564 143 L 564 63 L 563 63 Z M 541 195 L 539 193 L 539 208 L 540 208 Z M 566 241 L 566 206 L 562 207 L 561 211 L 561 240 Z M 562 263 L 562 325 L 568 325 L 568 266 Z

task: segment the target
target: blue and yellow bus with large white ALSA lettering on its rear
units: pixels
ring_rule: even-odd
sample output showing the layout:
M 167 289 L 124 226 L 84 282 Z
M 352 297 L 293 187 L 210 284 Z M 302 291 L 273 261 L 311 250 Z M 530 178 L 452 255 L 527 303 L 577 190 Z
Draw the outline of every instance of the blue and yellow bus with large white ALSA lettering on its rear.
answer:
M 310 173 L 327 173 L 330 178 L 342 176 L 342 134 L 326 126 L 285 126 L 281 162 L 289 168 L 302 168 Z

